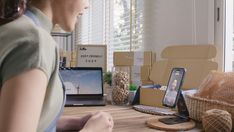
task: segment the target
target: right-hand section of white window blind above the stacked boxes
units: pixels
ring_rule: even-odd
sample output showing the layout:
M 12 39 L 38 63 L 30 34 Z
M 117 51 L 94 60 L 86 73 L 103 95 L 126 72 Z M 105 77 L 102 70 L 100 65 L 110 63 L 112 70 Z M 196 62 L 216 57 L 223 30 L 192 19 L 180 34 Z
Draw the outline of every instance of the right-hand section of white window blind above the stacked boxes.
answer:
M 114 51 L 141 49 L 143 0 L 114 0 L 111 44 Z

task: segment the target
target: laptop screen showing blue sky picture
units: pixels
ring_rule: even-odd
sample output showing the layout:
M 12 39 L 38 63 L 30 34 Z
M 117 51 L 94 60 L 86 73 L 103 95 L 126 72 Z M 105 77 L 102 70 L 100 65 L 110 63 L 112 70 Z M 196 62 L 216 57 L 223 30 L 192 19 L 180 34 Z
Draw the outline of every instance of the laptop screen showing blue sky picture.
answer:
M 60 75 L 68 95 L 102 94 L 101 68 L 62 69 Z

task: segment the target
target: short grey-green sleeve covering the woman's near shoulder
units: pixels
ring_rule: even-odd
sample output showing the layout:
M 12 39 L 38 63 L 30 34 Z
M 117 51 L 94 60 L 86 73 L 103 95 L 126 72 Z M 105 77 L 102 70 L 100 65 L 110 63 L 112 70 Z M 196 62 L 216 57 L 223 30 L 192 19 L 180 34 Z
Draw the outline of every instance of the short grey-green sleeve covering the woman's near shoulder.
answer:
M 0 26 L 0 64 L 4 63 L 7 69 L 11 65 L 18 65 L 18 71 L 39 67 L 49 76 L 56 66 L 55 46 L 50 34 L 26 16 Z M 18 71 L 10 71 L 6 75 L 10 78 Z

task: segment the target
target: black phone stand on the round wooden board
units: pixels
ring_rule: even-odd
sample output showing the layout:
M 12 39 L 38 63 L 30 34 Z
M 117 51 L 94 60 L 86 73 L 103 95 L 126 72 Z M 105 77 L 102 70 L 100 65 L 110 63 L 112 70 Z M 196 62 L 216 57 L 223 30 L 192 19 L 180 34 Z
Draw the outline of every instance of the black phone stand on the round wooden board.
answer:
M 179 98 L 177 101 L 177 109 L 178 109 L 178 113 L 175 114 L 175 117 L 161 118 L 159 119 L 159 121 L 167 125 L 179 124 L 179 123 L 184 123 L 184 122 L 189 121 L 189 112 L 185 104 L 182 91 L 180 91 L 179 93 Z

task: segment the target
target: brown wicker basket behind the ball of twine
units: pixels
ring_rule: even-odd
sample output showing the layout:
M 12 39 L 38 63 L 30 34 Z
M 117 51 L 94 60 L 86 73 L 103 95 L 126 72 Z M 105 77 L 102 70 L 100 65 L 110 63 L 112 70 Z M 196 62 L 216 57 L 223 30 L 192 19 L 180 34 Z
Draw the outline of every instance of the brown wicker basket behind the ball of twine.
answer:
M 185 94 L 185 101 L 189 111 L 190 118 L 196 121 L 202 121 L 204 112 L 210 109 L 226 110 L 232 115 L 232 126 L 234 126 L 234 105 L 217 100 L 208 100 L 196 97 L 193 94 Z M 233 127 L 234 128 L 234 127 Z

